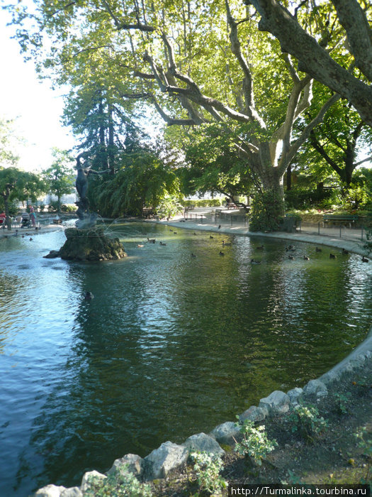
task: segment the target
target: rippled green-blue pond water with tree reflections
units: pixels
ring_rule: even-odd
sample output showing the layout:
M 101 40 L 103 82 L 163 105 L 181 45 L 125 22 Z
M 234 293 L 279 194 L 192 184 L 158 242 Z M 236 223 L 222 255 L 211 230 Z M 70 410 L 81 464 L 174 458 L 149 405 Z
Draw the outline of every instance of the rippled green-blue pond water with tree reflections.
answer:
M 320 376 L 368 332 L 360 256 L 297 243 L 291 261 L 286 241 L 118 229 L 129 257 L 105 263 L 43 258 L 62 232 L 0 240 L 1 496 L 79 485 L 124 454 L 209 432 Z

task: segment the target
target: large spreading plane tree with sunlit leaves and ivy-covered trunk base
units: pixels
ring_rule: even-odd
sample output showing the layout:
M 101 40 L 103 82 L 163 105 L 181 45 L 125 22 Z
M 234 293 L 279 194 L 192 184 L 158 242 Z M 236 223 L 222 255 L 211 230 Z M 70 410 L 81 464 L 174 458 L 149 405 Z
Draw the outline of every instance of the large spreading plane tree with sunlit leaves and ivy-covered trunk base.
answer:
M 151 102 L 168 126 L 230 126 L 237 158 L 259 179 L 257 205 L 264 212 L 252 226 L 278 227 L 283 175 L 339 94 L 329 92 L 314 118 L 296 129 L 312 104 L 312 75 L 299 72 L 272 36 L 257 31 L 249 9 L 236 0 L 36 0 L 35 5 L 33 13 L 19 3 L 13 7 L 18 24 L 27 26 L 32 19 L 36 26 L 19 29 L 18 39 L 31 54 L 41 55 L 57 81 L 69 82 L 74 68 L 84 65 L 94 80 L 110 74 L 117 99 Z M 312 26 L 317 29 L 315 21 Z M 45 35 L 52 39 L 49 53 Z M 332 43 L 337 51 L 338 40 Z

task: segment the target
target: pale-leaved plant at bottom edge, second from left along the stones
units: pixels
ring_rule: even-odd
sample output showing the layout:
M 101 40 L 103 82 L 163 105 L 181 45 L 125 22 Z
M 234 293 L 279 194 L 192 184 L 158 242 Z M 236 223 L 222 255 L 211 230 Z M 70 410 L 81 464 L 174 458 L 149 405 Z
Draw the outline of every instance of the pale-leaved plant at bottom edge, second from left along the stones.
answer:
M 220 476 L 223 467 L 220 456 L 208 452 L 192 452 L 190 457 L 194 461 L 193 470 L 202 492 L 217 493 L 227 487 L 227 482 Z

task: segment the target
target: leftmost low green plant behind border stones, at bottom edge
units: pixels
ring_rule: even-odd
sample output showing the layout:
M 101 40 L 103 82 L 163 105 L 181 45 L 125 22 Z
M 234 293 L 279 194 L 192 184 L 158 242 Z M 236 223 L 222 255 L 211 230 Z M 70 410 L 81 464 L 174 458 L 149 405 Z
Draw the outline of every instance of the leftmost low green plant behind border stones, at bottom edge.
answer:
M 115 471 L 107 478 L 93 476 L 89 479 L 89 488 L 84 492 L 86 497 L 151 497 L 150 485 L 140 481 L 125 469 Z

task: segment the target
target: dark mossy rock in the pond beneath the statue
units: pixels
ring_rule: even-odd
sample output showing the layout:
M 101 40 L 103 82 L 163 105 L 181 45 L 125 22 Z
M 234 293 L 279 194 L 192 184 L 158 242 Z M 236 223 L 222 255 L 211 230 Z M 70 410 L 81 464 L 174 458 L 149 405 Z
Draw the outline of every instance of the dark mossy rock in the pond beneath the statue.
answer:
M 126 257 L 118 238 L 108 238 L 103 228 L 64 230 L 67 240 L 60 249 L 60 257 L 67 261 L 108 261 Z

